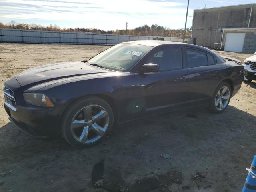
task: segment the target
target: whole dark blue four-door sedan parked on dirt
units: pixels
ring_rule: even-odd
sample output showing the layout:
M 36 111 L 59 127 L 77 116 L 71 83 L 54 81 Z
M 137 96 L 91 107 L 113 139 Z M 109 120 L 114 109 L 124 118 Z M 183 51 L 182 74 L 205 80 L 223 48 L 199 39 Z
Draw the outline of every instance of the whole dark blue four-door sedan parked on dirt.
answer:
M 208 105 L 223 112 L 240 89 L 243 66 L 184 43 L 133 41 L 93 58 L 28 69 L 4 83 L 10 119 L 38 137 L 62 135 L 88 147 L 114 123 Z

